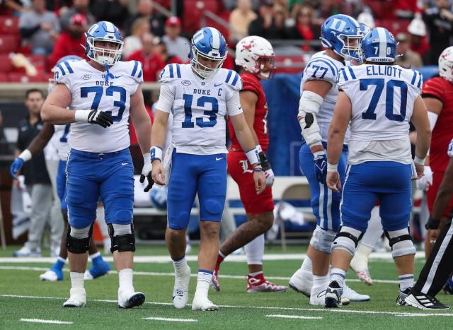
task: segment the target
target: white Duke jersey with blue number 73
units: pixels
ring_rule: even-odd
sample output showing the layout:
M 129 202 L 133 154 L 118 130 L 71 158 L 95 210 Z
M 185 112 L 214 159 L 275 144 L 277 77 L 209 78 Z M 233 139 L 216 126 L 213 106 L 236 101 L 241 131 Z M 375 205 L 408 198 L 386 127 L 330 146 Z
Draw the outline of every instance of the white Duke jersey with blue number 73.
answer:
M 103 110 L 113 116 L 113 125 L 71 124 L 69 145 L 79 151 L 111 153 L 130 146 L 130 97 L 143 82 L 142 64 L 138 61 L 117 61 L 106 72 L 98 71 L 86 61 L 63 62 L 55 71 L 56 83 L 64 83 L 71 92 L 72 110 Z

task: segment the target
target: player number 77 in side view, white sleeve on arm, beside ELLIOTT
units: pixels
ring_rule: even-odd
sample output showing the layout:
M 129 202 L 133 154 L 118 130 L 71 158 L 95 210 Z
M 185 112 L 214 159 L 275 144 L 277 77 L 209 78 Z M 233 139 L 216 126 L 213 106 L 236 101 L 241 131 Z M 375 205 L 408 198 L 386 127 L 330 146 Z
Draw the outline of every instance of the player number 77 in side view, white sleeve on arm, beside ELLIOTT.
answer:
M 289 286 L 309 296 L 311 305 L 324 305 L 321 293 L 328 285 L 331 245 L 340 228 L 341 194 L 330 191 L 326 185 L 325 153 L 328 125 L 338 97 L 336 76 L 345 61 L 360 61 L 361 39 L 360 25 L 354 18 L 342 14 L 327 18 L 321 26 L 321 41 L 326 50 L 311 57 L 301 81 L 297 116 L 302 129 L 299 165 L 309 182 L 316 229 L 306 258 L 289 280 Z M 342 180 L 347 158 L 347 146 L 344 146 L 339 165 Z M 347 293 L 348 300 L 369 300 L 369 296 L 353 290 Z

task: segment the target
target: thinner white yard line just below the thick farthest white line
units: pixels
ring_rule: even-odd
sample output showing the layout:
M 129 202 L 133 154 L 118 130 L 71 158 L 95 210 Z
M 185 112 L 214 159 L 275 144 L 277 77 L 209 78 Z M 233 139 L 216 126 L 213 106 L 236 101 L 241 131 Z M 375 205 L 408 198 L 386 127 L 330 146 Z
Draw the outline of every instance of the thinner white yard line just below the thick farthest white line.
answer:
M 48 271 L 48 268 L 45 267 L 29 267 L 29 266 L 0 266 L 0 271 Z M 63 269 L 64 272 L 69 272 L 69 269 Z M 116 271 L 110 271 L 110 273 L 115 274 Z M 163 273 L 158 271 L 134 271 L 134 275 L 141 275 L 141 276 L 175 276 L 175 273 Z M 191 277 L 197 277 L 197 274 L 191 274 Z M 244 280 L 246 275 L 224 275 L 221 274 L 220 278 L 229 278 L 235 280 Z M 289 281 L 289 277 L 286 276 L 266 276 L 266 278 L 270 281 Z M 352 278 L 346 280 L 347 282 L 360 282 L 357 278 Z M 378 280 L 373 278 L 374 283 L 399 283 L 396 280 Z

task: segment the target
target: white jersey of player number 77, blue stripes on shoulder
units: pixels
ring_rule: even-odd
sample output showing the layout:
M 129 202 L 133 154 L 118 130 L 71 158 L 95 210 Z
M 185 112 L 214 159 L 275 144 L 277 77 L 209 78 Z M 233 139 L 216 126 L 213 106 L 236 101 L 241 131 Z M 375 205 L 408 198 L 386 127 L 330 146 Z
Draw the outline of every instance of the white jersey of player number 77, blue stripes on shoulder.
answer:
M 304 83 L 311 80 L 321 80 L 331 83 L 332 87 L 327 92 L 323 100 L 323 104 L 316 115 L 316 120 L 319 125 L 319 133 L 321 139 L 327 142 L 328 126 L 331 124 L 333 116 L 333 108 L 337 102 L 338 88 L 336 86 L 336 77 L 338 71 L 344 67 L 344 64 L 332 57 L 329 57 L 325 52 L 317 52 L 310 61 L 306 64 L 302 81 L 300 83 L 300 95 L 304 91 Z M 348 143 L 348 138 L 345 136 L 345 144 Z

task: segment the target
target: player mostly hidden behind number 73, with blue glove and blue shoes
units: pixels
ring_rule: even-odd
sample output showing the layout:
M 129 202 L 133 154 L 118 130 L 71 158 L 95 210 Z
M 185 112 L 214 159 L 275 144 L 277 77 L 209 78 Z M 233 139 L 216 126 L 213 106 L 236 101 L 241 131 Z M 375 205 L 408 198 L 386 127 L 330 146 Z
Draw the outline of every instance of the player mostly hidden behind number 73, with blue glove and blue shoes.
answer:
M 55 65 L 54 69 L 52 69 L 52 72 L 55 73 L 57 70 L 58 66 L 65 61 L 68 63 L 74 63 L 76 61 L 81 61 L 81 57 L 78 56 L 66 56 L 62 57 L 57 61 L 57 64 Z M 52 89 L 55 86 L 55 81 L 50 81 L 49 83 L 49 93 L 52 92 Z M 21 153 L 21 155 L 18 156 L 14 160 L 14 162 L 11 164 L 10 167 L 10 172 L 11 176 L 16 179 L 18 171 L 21 170 L 23 163 L 27 162 L 31 158 L 33 158 L 34 155 L 37 155 L 40 153 L 45 146 L 47 146 L 47 143 L 50 141 L 54 141 L 55 149 L 58 151 L 58 156 L 59 156 L 59 164 L 58 164 L 58 172 L 57 172 L 57 194 L 59 197 L 59 200 L 61 202 L 61 208 L 62 208 L 62 215 L 63 215 L 63 221 L 64 221 L 64 230 L 63 230 L 63 235 L 62 235 L 62 242 L 60 245 L 59 249 L 59 257 L 57 258 L 57 261 L 55 261 L 55 264 L 53 264 L 48 271 L 45 273 L 42 273 L 40 275 L 40 279 L 42 281 L 62 281 L 63 280 L 63 266 L 66 263 L 66 259 L 68 257 L 68 251 L 66 247 L 66 236 L 67 236 L 67 226 L 68 226 L 68 215 L 67 215 L 67 203 L 66 203 L 66 163 L 67 163 L 67 158 L 68 158 L 68 152 L 69 152 L 69 143 L 68 143 L 68 134 L 69 134 L 69 129 L 71 129 L 71 125 L 52 125 L 49 123 L 45 123 L 42 126 L 42 129 L 40 131 L 40 134 L 33 139 L 33 141 L 30 143 L 30 146 L 25 149 Z M 96 247 L 96 244 L 94 243 L 93 240 L 90 242 L 90 249 L 88 250 L 88 254 L 91 258 L 91 268 L 86 271 L 85 273 L 85 279 L 94 279 L 98 278 L 99 276 L 103 276 L 108 271 L 110 271 L 110 265 L 105 262 L 101 256 L 101 253 L 98 252 L 98 249 Z

